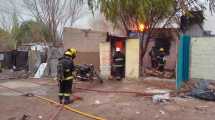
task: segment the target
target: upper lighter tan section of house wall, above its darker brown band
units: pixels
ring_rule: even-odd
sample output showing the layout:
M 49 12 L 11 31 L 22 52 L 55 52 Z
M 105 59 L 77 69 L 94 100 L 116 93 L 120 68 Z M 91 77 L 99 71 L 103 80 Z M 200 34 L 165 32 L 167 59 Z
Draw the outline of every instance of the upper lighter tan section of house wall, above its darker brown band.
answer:
M 99 43 L 106 41 L 107 33 L 92 30 L 65 28 L 64 48 L 74 47 L 79 52 L 99 52 Z

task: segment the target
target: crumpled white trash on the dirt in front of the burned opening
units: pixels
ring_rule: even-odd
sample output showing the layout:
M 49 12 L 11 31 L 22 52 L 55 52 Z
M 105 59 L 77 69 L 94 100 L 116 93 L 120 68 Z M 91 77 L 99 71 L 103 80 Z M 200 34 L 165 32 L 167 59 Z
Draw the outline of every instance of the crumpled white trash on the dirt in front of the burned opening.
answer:
M 167 102 L 170 100 L 170 94 L 160 94 L 160 95 L 154 95 L 152 97 L 153 103 L 160 103 L 160 102 Z

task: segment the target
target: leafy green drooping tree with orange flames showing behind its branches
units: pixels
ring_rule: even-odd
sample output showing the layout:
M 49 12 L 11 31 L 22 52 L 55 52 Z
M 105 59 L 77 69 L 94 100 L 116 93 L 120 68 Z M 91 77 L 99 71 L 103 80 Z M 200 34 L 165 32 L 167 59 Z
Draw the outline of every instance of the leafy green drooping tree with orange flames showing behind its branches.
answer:
M 165 22 L 170 15 L 175 14 L 177 6 L 174 0 L 90 0 L 88 4 L 93 11 L 98 8 L 115 26 L 124 26 L 127 33 L 129 30 L 147 28 L 148 38 L 141 47 L 142 57 L 145 55 L 149 38 L 155 27 Z M 144 35 L 140 37 L 143 40 Z

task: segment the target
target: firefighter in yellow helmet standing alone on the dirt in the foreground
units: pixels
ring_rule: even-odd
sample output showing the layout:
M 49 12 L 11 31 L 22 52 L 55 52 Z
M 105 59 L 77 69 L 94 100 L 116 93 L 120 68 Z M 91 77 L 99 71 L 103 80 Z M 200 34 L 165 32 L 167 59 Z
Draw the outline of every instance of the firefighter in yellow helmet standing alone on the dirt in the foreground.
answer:
M 65 51 L 64 56 L 59 59 L 57 66 L 57 78 L 59 85 L 59 102 L 60 104 L 70 104 L 70 95 L 72 93 L 72 84 L 73 84 L 73 71 L 74 67 L 74 58 L 76 57 L 77 50 L 70 48 Z

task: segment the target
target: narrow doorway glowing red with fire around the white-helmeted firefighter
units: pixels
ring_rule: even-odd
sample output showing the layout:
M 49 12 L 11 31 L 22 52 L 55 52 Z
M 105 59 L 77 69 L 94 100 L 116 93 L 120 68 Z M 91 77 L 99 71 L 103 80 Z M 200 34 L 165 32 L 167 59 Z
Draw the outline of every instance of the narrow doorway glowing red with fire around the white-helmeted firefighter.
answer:
M 125 56 L 126 37 L 109 36 L 109 40 L 111 42 L 111 76 L 116 76 L 116 69 L 114 67 L 114 56 L 116 55 L 118 50 Z M 124 57 L 124 64 L 125 64 L 125 57 Z M 122 77 L 124 77 L 125 65 L 123 66 L 121 72 L 123 74 Z

